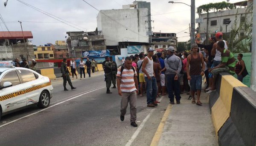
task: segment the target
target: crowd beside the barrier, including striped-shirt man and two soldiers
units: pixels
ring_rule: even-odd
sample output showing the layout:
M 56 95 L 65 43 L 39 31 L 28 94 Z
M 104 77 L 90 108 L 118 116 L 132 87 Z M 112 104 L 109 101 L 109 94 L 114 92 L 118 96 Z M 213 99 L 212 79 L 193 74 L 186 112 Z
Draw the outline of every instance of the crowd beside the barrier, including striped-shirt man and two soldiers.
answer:
M 120 120 L 124 120 L 130 103 L 131 126 L 137 126 L 137 95 L 146 93 L 147 106 L 156 107 L 160 103 L 157 97 L 166 95 L 166 92 L 170 104 L 175 104 L 175 100 L 176 104 L 180 104 L 180 94 L 187 93 L 192 103 L 201 106 L 203 76 L 206 77 L 207 93 L 215 91 L 216 78 L 220 72 L 236 73 L 242 81 L 246 74 L 242 54 L 238 55 L 239 61 L 236 63 L 233 53 L 228 50 L 228 42 L 222 36 L 221 32 L 216 33 L 215 37 L 210 38 L 210 45 L 200 44 L 197 40 L 189 52 L 177 52 L 173 46 L 169 46 L 165 52 L 154 54 L 155 50 L 148 48 L 148 54 L 141 52 L 123 57 L 123 64 L 119 68 L 106 57 L 103 63 L 106 93 L 112 93 L 109 89 L 111 81 L 113 88 L 116 88 L 117 83 L 118 94 L 122 96 Z M 117 82 L 113 82 L 115 79 Z

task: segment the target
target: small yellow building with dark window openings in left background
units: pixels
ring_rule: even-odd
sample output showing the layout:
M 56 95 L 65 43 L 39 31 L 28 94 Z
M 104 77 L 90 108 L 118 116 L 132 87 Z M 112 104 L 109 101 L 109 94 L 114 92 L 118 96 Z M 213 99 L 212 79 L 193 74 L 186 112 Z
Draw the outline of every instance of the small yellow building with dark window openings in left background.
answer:
M 38 46 L 37 50 L 34 51 L 34 55 L 36 59 L 51 59 L 54 58 L 54 53 L 52 50 L 52 46 L 44 45 Z

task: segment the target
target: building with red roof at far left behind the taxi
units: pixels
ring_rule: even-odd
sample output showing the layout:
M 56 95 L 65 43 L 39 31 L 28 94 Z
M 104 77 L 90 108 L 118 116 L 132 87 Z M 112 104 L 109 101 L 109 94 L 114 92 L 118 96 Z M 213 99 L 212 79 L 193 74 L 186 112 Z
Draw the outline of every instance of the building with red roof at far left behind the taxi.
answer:
M 24 40 L 23 40 L 24 37 Z M 34 59 L 34 49 L 28 39 L 32 39 L 31 31 L 0 31 L 0 59 L 14 60 L 22 57 Z

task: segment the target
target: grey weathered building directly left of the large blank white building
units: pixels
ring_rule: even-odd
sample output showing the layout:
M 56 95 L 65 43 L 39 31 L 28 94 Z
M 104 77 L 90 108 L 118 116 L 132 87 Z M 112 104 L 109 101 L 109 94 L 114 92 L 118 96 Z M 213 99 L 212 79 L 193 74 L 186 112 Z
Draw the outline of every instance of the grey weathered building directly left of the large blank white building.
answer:
M 106 50 L 103 35 L 84 31 L 69 31 L 67 34 L 67 48 L 71 57 L 83 57 L 85 51 Z

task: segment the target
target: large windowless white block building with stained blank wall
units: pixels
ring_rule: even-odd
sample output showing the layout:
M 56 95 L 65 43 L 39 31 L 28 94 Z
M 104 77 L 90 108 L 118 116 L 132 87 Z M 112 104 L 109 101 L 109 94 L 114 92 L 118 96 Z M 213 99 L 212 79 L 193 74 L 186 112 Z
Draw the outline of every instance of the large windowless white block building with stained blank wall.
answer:
M 123 9 L 100 10 L 97 28 L 104 35 L 107 46 L 119 46 L 119 42 L 148 43 L 149 20 L 150 3 L 134 1 Z

